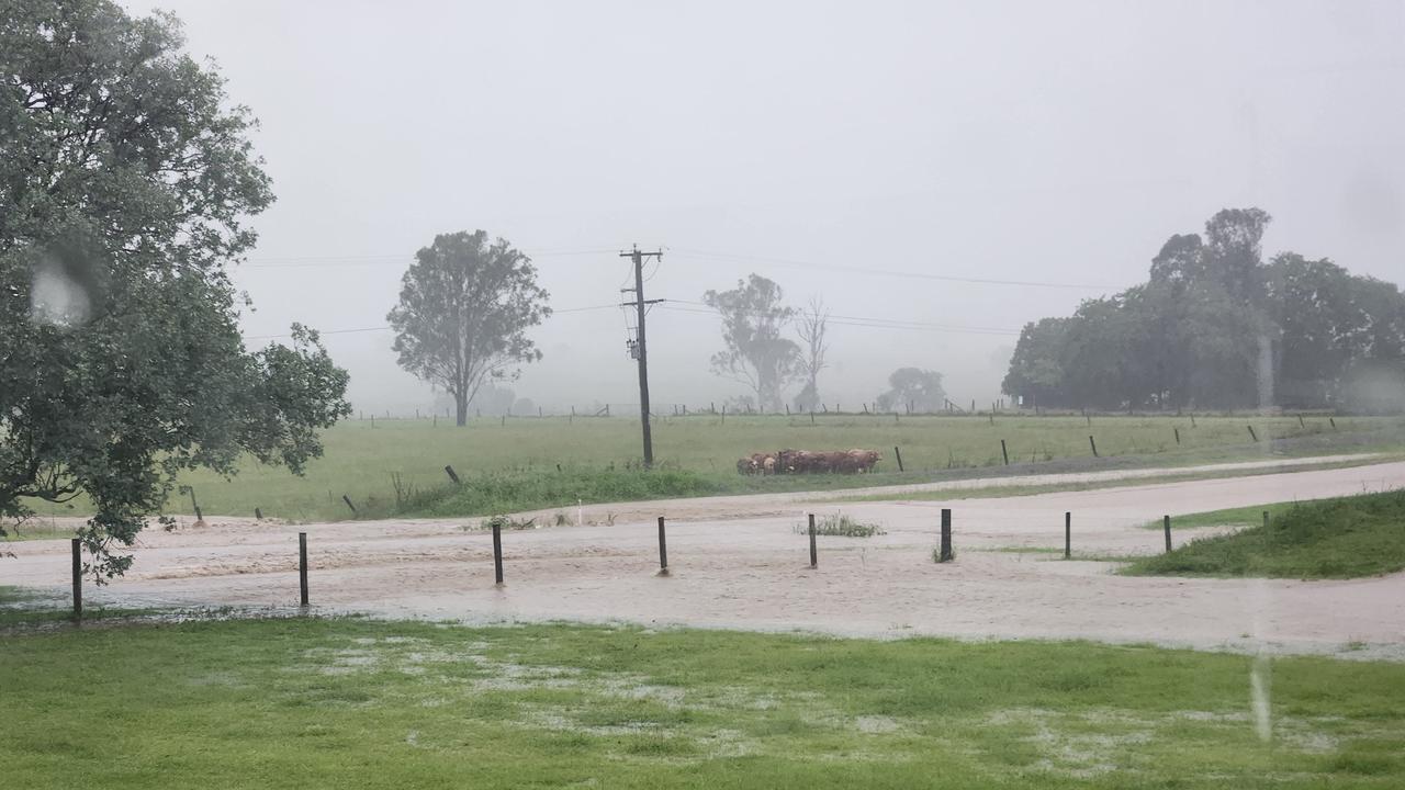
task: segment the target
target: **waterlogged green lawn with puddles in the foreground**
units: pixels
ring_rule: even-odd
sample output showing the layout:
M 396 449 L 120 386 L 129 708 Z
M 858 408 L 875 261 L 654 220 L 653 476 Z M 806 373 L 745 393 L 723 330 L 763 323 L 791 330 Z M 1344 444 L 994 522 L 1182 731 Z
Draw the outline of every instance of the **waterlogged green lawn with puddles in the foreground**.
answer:
M 1398 787 L 1405 665 L 244 620 L 0 635 L 7 787 Z M 1272 690 L 1272 737 L 1250 673 Z

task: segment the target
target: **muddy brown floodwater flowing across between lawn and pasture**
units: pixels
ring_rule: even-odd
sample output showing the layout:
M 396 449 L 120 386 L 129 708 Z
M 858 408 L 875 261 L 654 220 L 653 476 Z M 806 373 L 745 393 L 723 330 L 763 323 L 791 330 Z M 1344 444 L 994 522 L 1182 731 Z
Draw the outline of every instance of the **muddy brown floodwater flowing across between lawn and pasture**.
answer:
M 1235 467 L 1243 465 L 1227 465 Z M 1089 477 L 1016 484 L 1073 484 Z M 992 484 L 998 485 L 958 486 Z M 205 527 L 143 533 L 132 571 L 105 588 L 90 588 L 87 597 L 126 606 L 292 606 L 296 536 L 306 531 L 312 603 L 319 611 L 863 637 L 1089 638 L 1405 661 L 1405 574 L 1343 582 L 1131 578 L 1116 575 L 1114 562 L 1064 561 L 1059 554 L 1066 510 L 1073 513 L 1075 555 L 1127 555 L 1162 550 L 1161 530 L 1146 523 L 1163 513 L 1401 485 L 1405 462 L 1388 462 L 953 500 L 947 506 L 954 510 L 957 557 L 943 565 L 932 561 L 943 503 L 902 500 L 912 488 L 887 491 L 894 496 L 888 502 L 836 503 L 799 493 L 589 506 L 579 513 L 583 524 L 575 523 L 576 507 L 568 507 L 562 509 L 568 526 L 503 533 L 502 588 L 493 585 L 489 533 L 464 530 L 479 519 L 301 526 L 214 519 Z M 941 484 L 923 488 L 940 491 Z M 837 510 L 877 522 L 887 534 L 821 537 L 819 568 L 809 569 L 806 538 L 795 527 L 805 513 Z M 656 574 L 659 514 L 669 517 L 667 576 Z M 1214 531 L 1180 530 L 1175 541 Z M 7 548 L 17 558 L 0 561 L 0 583 L 62 593 L 66 541 Z

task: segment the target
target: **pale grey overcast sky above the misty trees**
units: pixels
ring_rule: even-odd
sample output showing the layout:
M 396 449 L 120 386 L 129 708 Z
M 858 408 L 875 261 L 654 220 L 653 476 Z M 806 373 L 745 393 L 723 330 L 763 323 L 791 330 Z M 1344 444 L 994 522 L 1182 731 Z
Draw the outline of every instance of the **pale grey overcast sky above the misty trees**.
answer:
M 153 7 L 263 122 L 249 336 L 384 326 L 414 250 L 482 228 L 558 311 L 617 302 L 638 242 L 665 247 L 651 297 L 756 271 L 940 325 L 833 326 L 823 399 L 917 365 L 988 402 L 1024 322 L 1144 280 L 1224 207 L 1274 216 L 1266 253 L 1405 276 L 1401 1 L 128 3 Z M 518 395 L 638 399 L 618 309 L 534 336 Z M 655 311 L 649 339 L 655 402 L 743 392 L 707 373 L 714 316 Z M 429 405 L 389 332 L 326 340 L 358 408 Z

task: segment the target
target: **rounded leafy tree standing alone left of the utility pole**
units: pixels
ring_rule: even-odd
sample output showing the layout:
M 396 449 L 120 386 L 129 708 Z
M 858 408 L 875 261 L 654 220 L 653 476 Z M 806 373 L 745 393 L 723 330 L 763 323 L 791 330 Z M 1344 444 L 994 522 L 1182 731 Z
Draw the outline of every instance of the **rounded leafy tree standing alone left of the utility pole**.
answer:
M 527 330 L 551 315 L 531 259 L 488 233 L 441 233 L 400 278 L 395 329 L 400 367 L 454 398 L 458 425 L 489 380 L 516 380 L 541 358 Z

